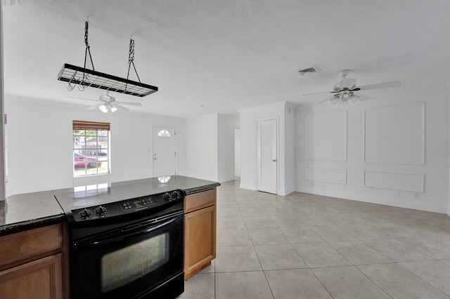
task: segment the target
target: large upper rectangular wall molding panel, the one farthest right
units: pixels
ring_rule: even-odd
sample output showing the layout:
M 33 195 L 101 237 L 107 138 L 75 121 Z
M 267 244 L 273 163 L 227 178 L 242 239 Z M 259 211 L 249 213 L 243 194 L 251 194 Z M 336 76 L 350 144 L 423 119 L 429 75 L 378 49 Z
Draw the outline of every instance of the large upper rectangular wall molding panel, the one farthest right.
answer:
M 425 164 L 425 102 L 364 109 L 364 162 Z

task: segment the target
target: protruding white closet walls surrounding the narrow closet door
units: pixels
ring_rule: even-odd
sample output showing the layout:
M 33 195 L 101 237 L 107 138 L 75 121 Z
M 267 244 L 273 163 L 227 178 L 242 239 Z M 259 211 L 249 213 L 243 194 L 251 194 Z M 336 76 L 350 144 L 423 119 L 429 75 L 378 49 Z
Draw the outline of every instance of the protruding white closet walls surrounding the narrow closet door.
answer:
M 291 107 L 291 114 L 285 117 Z M 293 122 L 293 107 L 287 102 L 278 102 L 240 110 L 240 187 L 257 190 L 257 121 L 259 119 L 278 119 L 278 194 L 293 192 L 294 157 L 292 147 L 293 131 L 286 130 L 285 125 Z M 290 139 L 290 140 L 289 140 Z M 289 140 L 289 141 L 286 141 Z

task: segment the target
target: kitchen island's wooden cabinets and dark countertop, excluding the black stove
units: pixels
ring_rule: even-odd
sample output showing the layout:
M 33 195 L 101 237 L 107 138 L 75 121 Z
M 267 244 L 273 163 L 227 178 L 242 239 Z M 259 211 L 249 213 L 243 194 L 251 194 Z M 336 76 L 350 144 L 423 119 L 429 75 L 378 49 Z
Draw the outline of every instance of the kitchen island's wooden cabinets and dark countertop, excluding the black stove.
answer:
M 215 258 L 219 185 L 172 175 L 18 194 L 0 201 L 0 298 L 30 298 L 36 293 L 39 298 L 70 297 L 68 221 L 56 197 L 75 198 L 92 190 L 117 201 L 184 190 L 184 278 L 188 279 Z

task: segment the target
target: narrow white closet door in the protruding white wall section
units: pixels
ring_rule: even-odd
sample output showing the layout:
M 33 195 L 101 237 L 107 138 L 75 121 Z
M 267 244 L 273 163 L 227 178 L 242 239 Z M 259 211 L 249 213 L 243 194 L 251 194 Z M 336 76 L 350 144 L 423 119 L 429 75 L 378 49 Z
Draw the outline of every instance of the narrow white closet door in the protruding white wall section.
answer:
M 277 191 L 277 128 L 276 119 L 257 122 L 258 190 Z

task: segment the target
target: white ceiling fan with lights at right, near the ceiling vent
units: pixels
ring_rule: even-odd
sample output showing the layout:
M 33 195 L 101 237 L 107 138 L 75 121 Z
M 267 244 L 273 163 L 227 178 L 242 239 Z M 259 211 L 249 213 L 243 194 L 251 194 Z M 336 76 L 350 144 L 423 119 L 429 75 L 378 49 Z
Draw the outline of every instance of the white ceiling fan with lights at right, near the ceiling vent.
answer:
M 352 102 L 356 102 L 357 100 L 368 100 L 368 96 L 362 95 L 361 93 L 355 93 L 355 91 L 369 91 L 372 89 L 380 89 L 380 88 L 391 88 L 400 86 L 400 81 L 390 81 L 378 84 L 370 84 L 364 86 L 356 86 L 356 79 L 347 78 L 347 75 L 350 73 L 349 69 L 342 69 L 342 71 L 338 72 L 338 74 L 342 77 L 342 80 L 333 86 L 333 91 L 325 91 L 322 93 L 334 93 L 329 98 L 318 102 L 316 105 L 323 104 L 328 100 L 333 104 L 345 105 L 348 100 L 352 100 Z M 307 93 L 304 95 L 316 95 L 319 93 Z

